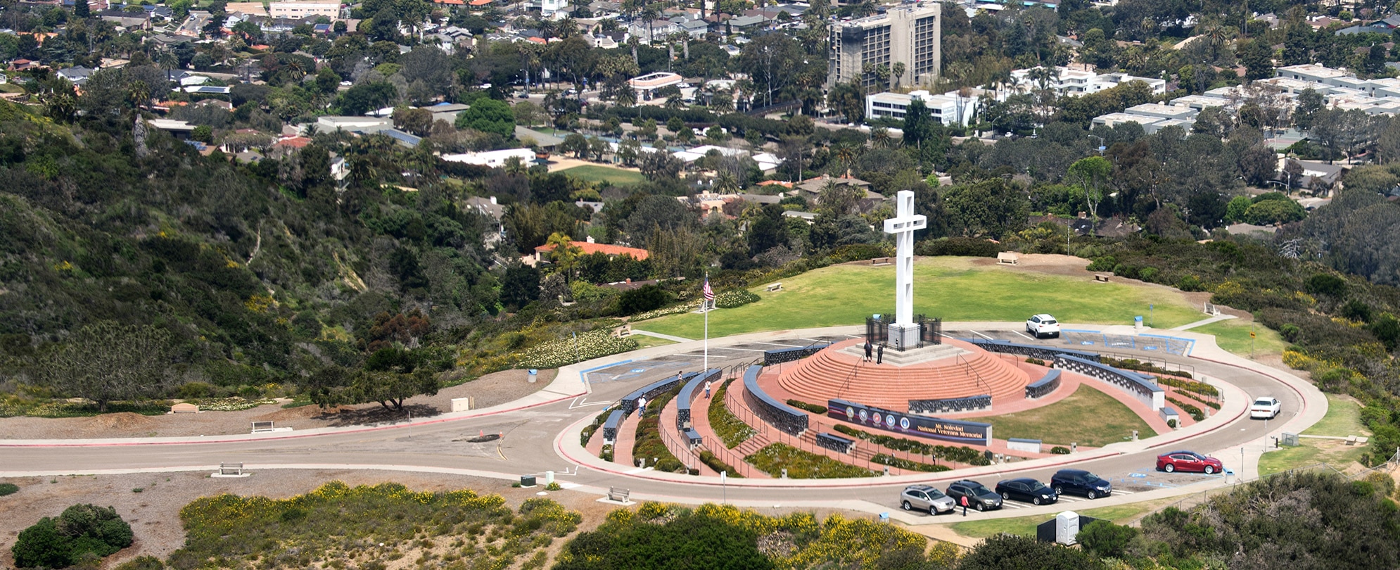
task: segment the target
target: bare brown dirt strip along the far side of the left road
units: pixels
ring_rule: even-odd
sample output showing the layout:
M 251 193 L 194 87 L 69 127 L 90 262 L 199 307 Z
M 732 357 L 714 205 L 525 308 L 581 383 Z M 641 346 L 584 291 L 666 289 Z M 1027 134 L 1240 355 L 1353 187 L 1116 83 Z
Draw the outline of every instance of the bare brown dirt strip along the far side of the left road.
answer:
M 167 413 L 141 416 L 137 413 L 106 413 L 91 417 L 0 417 L 0 438 L 6 440 L 74 440 L 97 437 L 192 437 L 248 433 L 252 422 L 273 422 L 277 427 L 309 430 L 316 427 L 371 426 L 382 422 L 402 422 L 431 417 L 452 410 L 454 398 L 475 398 L 476 408 L 514 402 L 535 394 L 554 380 L 556 370 L 540 370 L 531 384 L 525 370 L 504 370 L 470 382 L 444 388 L 434 396 L 414 396 L 403 402 L 405 410 L 389 410 L 378 403 L 339 406 L 281 408 L 265 405 L 241 412 Z

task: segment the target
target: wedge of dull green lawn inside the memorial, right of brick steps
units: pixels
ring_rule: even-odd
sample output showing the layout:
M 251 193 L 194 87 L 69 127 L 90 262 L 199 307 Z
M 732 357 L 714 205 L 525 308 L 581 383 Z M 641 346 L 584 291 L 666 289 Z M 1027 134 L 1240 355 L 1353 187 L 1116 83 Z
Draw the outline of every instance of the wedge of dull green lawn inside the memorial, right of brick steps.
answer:
M 1093 417 L 1093 422 L 1085 422 L 1085 417 Z M 1155 434 L 1128 406 L 1089 384 L 1081 384 L 1068 398 L 1049 406 L 973 420 L 990 423 L 991 434 L 998 440 L 1025 437 L 1064 447 L 1070 443 L 1091 447 L 1116 444 L 1130 438 L 1133 430 L 1138 430 L 1138 437 Z

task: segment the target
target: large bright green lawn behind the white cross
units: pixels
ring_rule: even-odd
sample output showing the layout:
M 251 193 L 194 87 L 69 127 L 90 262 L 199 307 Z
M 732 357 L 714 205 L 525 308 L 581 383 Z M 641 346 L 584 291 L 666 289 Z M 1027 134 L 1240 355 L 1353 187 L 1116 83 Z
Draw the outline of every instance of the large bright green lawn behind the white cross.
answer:
M 1176 293 L 1123 283 L 1095 283 L 1014 267 L 974 267 L 970 258 L 921 258 L 914 262 L 914 312 L 945 321 L 1025 321 L 1050 312 L 1067 328 L 1074 324 L 1121 324 L 1148 314 L 1156 304 L 1158 328 L 1204 318 Z M 858 325 L 875 312 L 895 310 L 895 267 L 840 265 L 783 279 L 783 291 L 750 291 L 762 297 L 710 315 L 710 336 L 812 326 Z M 703 336 L 701 315 L 671 315 L 647 321 L 647 331 L 687 339 Z

